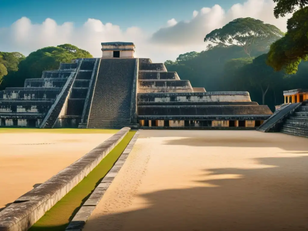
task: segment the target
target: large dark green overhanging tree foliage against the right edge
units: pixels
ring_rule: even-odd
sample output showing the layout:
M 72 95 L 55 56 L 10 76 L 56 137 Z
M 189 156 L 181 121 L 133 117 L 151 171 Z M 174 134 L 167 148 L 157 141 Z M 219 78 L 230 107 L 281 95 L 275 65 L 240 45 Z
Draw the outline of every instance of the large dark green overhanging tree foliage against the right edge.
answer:
M 287 33 L 270 46 L 267 63 L 276 71 L 288 74 L 298 70 L 298 64 L 308 60 L 308 6 L 294 12 L 288 19 Z

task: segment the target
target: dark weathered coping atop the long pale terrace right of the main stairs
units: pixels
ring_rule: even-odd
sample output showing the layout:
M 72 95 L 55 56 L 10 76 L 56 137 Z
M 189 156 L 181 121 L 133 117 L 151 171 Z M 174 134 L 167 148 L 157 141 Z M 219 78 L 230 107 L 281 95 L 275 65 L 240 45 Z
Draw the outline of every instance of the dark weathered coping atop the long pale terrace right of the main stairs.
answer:
M 155 98 L 174 96 L 208 96 L 208 95 L 249 95 L 248 91 L 208 91 L 208 92 L 180 92 L 180 93 L 139 93 L 138 97 L 149 96 Z

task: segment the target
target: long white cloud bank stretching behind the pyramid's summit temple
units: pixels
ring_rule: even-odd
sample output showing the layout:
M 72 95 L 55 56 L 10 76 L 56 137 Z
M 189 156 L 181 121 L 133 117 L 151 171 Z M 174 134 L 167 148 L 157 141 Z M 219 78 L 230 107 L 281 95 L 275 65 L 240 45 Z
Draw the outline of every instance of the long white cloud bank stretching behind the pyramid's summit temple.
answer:
M 257 18 L 286 30 L 285 18 L 276 19 L 273 14 L 275 3 L 272 0 L 247 0 L 224 10 L 219 5 L 204 7 L 193 11 L 193 18 L 177 22 L 168 20 L 167 27 L 153 34 L 147 34 L 138 27 L 121 30 L 112 23 L 103 24 L 100 20 L 89 18 L 80 27 L 71 22 L 58 25 L 47 18 L 42 24 L 33 24 L 29 18 L 22 17 L 8 28 L 0 28 L 0 51 L 19 51 L 28 55 L 42 47 L 71 43 L 100 57 L 100 43 L 112 41 L 133 42 L 136 57 L 151 58 L 153 62 L 176 59 L 188 51 L 202 51 L 206 48 L 203 39 L 211 30 L 224 26 L 240 17 Z

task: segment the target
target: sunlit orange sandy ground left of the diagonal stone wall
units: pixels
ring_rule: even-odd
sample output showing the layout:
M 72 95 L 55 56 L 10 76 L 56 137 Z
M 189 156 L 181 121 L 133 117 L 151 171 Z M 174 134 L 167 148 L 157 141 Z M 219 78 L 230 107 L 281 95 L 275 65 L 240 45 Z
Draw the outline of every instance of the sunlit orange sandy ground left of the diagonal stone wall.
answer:
M 112 135 L 1 133 L 0 211 Z

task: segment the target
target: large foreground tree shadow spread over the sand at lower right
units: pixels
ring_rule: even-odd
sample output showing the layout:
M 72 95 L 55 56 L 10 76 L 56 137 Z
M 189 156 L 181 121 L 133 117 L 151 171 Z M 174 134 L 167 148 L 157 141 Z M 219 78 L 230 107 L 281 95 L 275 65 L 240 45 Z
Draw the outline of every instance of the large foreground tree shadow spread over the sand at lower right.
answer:
M 308 156 L 255 160 L 262 167 L 204 169 L 204 186 L 136 195 L 143 209 L 92 217 L 84 230 L 308 230 Z

